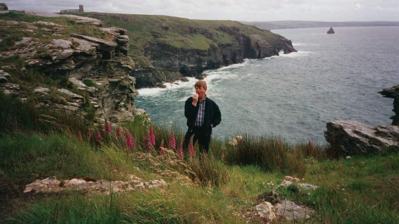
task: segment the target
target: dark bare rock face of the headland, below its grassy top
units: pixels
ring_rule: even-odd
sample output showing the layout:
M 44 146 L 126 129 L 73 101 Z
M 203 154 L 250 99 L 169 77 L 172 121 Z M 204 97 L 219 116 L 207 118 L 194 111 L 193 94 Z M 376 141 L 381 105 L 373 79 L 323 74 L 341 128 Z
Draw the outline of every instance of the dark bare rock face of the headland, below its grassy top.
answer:
M 182 76 L 201 76 L 204 70 L 217 69 L 231 64 L 242 63 L 244 58 L 259 59 L 296 51 L 292 42 L 282 36 L 271 44 L 257 34 L 240 34 L 237 27 L 226 28 L 236 43 L 212 44 L 209 49 L 177 48 L 163 42 L 144 45 L 146 56 L 152 68 L 133 70 L 130 75 L 138 81 L 136 88 L 162 86 L 164 82 L 181 80 Z M 183 78 L 184 79 L 184 78 Z

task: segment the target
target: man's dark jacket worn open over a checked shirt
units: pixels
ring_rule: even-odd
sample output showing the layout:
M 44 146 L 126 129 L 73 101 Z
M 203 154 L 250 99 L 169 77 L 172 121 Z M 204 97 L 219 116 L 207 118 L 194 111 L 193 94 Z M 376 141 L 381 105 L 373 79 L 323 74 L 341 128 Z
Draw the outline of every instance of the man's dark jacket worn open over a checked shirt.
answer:
M 186 104 L 184 105 L 184 116 L 186 116 L 187 118 L 187 126 L 189 131 L 194 127 L 194 123 L 196 122 L 197 113 L 199 110 L 199 99 L 196 107 L 194 107 L 192 103 L 193 97 L 189 97 L 186 100 Z M 211 124 L 213 125 L 213 127 L 216 127 L 220 124 L 222 117 L 217 104 L 208 97 L 205 97 L 204 112 L 205 114 L 203 116 L 203 130 L 205 131 L 206 135 L 209 135 L 212 133 Z

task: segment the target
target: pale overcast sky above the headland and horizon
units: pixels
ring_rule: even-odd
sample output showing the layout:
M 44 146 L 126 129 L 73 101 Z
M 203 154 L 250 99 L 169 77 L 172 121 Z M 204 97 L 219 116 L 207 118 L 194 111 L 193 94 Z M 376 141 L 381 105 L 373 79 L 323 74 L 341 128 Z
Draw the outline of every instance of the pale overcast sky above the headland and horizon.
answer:
M 399 0 L 0 0 L 9 10 L 149 14 L 237 21 L 399 21 Z

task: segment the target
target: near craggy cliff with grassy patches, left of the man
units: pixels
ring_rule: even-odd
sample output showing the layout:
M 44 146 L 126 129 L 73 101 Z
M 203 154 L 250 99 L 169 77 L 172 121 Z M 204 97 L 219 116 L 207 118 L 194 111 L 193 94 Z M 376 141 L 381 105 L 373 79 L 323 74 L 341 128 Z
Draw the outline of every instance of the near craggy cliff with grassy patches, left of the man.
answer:
M 99 117 L 133 118 L 138 92 L 134 88 L 135 78 L 129 76 L 134 62 L 126 56 L 126 30 L 95 28 L 97 34 L 106 37 L 101 39 L 67 33 L 67 26 L 52 22 L 2 23 L 8 25 L 7 29 L 16 29 L 17 34 L 20 29 L 23 33 L 22 38 L 18 37 L 22 40 L 0 52 L 2 58 L 20 61 L 2 64 L 8 77 L 0 88 L 6 94 L 71 113 L 87 115 L 91 111 Z M 45 38 L 37 38 L 43 32 Z

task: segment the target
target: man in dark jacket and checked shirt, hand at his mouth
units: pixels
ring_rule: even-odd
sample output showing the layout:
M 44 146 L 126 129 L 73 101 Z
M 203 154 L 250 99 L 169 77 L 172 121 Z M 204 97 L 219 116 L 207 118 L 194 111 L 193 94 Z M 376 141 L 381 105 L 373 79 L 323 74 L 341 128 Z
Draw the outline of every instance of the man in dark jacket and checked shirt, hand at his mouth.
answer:
M 186 100 L 184 116 L 187 118 L 188 131 L 184 136 L 184 149 L 187 149 L 191 136 L 194 134 L 193 143 L 198 140 L 199 151 L 209 151 L 212 128 L 221 122 L 221 113 L 217 104 L 206 97 L 207 85 L 199 80 L 194 85 L 196 93 Z

